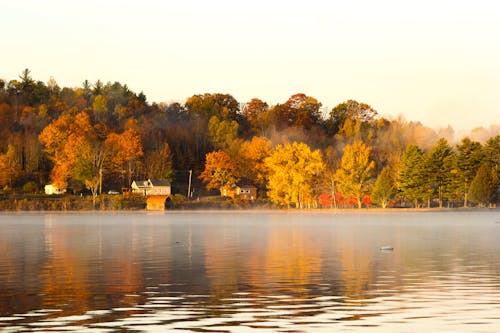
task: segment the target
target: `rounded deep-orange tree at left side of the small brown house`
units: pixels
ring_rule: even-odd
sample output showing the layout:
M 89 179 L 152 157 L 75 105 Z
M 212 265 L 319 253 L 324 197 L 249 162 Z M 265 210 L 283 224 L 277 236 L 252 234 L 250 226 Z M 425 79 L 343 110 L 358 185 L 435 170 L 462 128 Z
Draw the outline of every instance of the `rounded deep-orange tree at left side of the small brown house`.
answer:
M 218 150 L 207 154 L 205 169 L 199 178 L 207 184 L 207 190 L 218 189 L 223 195 L 225 189 L 230 189 L 238 181 L 235 171 L 231 156 Z

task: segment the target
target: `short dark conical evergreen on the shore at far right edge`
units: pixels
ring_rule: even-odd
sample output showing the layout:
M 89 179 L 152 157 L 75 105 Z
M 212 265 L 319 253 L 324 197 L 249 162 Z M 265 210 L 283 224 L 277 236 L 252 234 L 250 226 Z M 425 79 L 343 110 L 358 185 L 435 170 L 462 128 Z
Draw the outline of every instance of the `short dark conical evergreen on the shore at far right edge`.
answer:
M 488 206 L 495 200 L 498 176 L 493 166 L 485 162 L 477 171 L 469 190 L 470 201 L 480 206 Z

